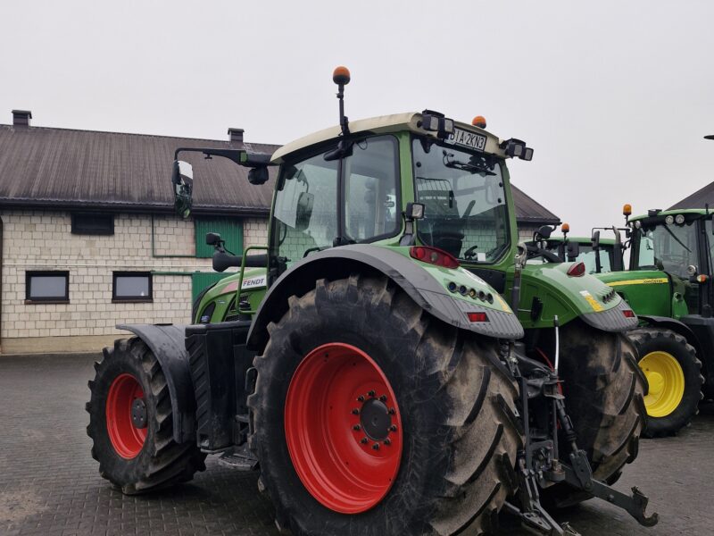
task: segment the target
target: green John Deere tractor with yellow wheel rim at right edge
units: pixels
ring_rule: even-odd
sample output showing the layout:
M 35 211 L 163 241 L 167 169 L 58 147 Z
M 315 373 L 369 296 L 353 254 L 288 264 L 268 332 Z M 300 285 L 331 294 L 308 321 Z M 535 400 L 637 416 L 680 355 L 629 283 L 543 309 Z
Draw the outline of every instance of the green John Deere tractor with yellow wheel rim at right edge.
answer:
M 626 205 L 629 271 L 600 279 L 640 318 L 642 326 L 629 336 L 650 384 L 645 434 L 668 435 L 692 420 L 702 396 L 714 397 L 712 214 L 651 210 L 629 218 L 630 212 Z

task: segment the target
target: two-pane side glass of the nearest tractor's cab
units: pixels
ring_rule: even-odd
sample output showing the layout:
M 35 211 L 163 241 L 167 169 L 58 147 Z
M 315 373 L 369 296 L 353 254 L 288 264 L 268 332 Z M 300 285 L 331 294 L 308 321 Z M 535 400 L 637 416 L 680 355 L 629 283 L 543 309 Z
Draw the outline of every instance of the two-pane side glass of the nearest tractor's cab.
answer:
M 332 148 L 332 147 L 330 147 Z M 342 161 L 323 154 L 283 166 L 275 196 L 272 243 L 287 264 L 338 244 L 367 242 L 396 234 L 398 147 L 392 136 L 366 138 Z M 337 206 L 344 221 L 338 224 Z

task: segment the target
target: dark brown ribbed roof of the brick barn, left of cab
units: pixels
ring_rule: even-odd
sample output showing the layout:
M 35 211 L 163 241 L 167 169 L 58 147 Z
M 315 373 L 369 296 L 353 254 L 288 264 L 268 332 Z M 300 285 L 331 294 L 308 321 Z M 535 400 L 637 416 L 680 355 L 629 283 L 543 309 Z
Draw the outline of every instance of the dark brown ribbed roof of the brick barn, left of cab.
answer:
M 0 205 L 169 211 L 177 147 L 242 148 L 240 142 L 91 130 L 0 125 Z M 278 146 L 245 144 L 272 154 Z M 275 180 L 253 186 L 248 170 L 225 158 L 194 165 L 195 212 L 268 214 Z

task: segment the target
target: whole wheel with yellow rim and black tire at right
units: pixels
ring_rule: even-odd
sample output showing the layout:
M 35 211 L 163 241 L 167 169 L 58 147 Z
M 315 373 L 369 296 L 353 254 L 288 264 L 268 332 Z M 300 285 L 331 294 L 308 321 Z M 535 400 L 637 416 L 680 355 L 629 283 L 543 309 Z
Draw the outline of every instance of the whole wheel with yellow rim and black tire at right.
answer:
M 644 397 L 647 427 L 643 436 L 677 433 L 697 415 L 702 399 L 702 362 L 686 339 L 674 331 L 642 328 L 627 333 L 650 390 Z

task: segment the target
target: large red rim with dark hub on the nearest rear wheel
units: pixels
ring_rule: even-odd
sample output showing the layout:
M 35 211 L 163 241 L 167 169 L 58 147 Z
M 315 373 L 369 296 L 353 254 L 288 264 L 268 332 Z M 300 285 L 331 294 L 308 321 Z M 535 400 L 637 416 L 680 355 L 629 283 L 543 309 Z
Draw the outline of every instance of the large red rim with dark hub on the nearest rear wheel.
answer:
M 285 431 L 301 482 L 336 512 L 376 506 L 399 471 L 394 390 L 379 365 L 351 345 L 325 344 L 305 356 L 287 389 Z

